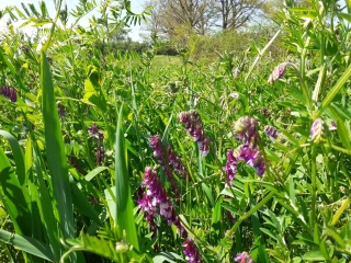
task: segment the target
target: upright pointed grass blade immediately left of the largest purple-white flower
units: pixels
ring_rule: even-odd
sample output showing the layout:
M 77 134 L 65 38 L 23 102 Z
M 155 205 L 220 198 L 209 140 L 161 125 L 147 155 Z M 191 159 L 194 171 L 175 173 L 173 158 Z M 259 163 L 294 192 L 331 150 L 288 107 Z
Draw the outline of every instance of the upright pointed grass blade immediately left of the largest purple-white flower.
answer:
M 127 241 L 138 250 L 138 238 L 136 235 L 135 221 L 134 221 L 134 204 L 132 201 L 132 193 L 129 186 L 129 178 L 126 162 L 126 149 L 124 147 L 124 134 L 122 130 L 122 115 L 123 106 L 121 106 L 118 114 L 118 123 L 116 130 L 115 142 L 115 173 L 116 173 L 116 221 L 120 229 L 120 235 L 123 230 L 126 232 Z M 122 237 L 122 236 L 121 236 Z

